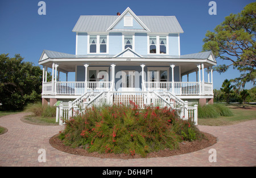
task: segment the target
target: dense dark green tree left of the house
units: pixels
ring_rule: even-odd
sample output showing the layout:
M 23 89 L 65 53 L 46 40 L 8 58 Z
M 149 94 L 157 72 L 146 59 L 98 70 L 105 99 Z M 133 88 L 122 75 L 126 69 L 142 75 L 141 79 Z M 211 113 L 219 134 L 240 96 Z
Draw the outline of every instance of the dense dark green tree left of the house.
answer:
M 41 98 L 42 70 L 24 62 L 20 54 L 0 54 L 0 103 L 5 110 L 23 109 Z

